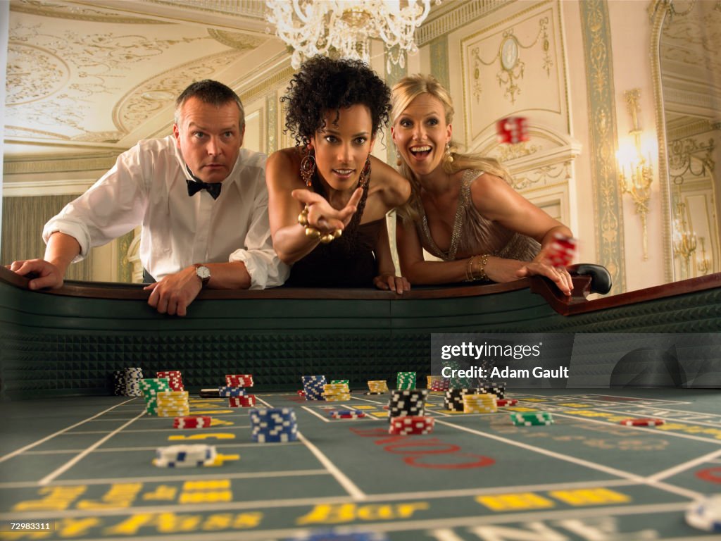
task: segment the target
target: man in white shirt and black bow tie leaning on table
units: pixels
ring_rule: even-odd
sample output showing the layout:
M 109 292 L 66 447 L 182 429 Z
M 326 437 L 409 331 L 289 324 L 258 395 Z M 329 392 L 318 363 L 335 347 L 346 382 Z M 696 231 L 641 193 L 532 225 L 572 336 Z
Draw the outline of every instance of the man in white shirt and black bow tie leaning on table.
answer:
M 243 105 L 205 80 L 176 101 L 173 135 L 140 141 L 45 224 L 44 259 L 14 261 L 37 273 L 30 289 L 59 288 L 70 263 L 142 225 L 140 258 L 155 280 L 148 303 L 185 315 L 200 289 L 280 286 L 289 268 L 273 250 L 265 154 L 241 149 Z

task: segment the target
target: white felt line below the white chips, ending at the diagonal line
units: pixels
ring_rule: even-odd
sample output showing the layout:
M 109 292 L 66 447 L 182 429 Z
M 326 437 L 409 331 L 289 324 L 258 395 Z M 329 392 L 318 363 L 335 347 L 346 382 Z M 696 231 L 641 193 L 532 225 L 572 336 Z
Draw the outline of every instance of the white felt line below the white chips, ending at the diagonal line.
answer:
M 279 444 L 273 444 L 273 447 Z M 300 443 L 298 443 L 300 445 Z M 168 483 L 170 481 L 185 482 L 187 480 L 218 480 L 218 479 L 267 479 L 286 477 L 305 477 L 307 475 L 330 475 L 327 470 L 288 470 L 286 472 L 242 472 L 242 473 L 208 473 L 205 475 L 194 475 L 190 471 L 185 472 L 183 477 L 177 475 L 150 475 L 147 477 L 131 478 L 106 478 L 106 479 L 63 479 L 53 481 L 51 486 L 78 486 L 78 485 L 112 485 L 113 483 Z M 37 487 L 36 481 L 8 481 L 0 483 L 0 488 L 33 488 Z M 185 509 L 185 505 L 182 506 Z M 126 508 L 127 510 L 127 508 Z M 93 510 L 94 512 L 95 510 Z M 47 511 L 46 511 L 47 512 Z M 1 514 L 0 514 L 1 515 Z

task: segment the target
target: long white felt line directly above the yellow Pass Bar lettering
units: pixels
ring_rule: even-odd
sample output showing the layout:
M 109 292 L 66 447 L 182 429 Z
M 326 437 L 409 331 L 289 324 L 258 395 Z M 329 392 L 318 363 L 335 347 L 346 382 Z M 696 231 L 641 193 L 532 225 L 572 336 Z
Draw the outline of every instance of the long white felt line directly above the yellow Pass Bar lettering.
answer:
M 325 470 L 309 470 L 310 472 L 316 471 L 317 474 L 309 473 L 309 475 L 328 475 Z M 275 477 L 284 477 L 286 472 L 278 472 L 279 475 Z M 240 479 L 240 475 L 229 475 L 228 478 Z M 247 474 L 250 477 L 252 474 Z M 260 477 L 260 476 L 259 476 Z M 245 478 L 245 477 L 243 477 Z M 198 480 L 197 477 L 183 478 L 182 480 Z M 214 479 L 217 479 L 214 478 Z M 224 477 L 224 479 L 226 479 Z M 144 479 L 143 479 L 144 480 Z M 167 478 L 158 478 L 159 481 L 168 481 Z M 174 480 L 181 481 L 179 478 Z M 60 483 L 53 483 L 53 486 L 59 485 Z M 63 482 L 63 485 L 66 484 Z M 429 492 L 407 492 L 407 493 L 392 493 L 392 494 L 369 494 L 366 498 L 366 503 L 379 502 L 383 503 L 386 501 L 417 501 L 417 500 L 441 500 L 446 498 L 465 498 L 467 496 L 483 496 L 485 494 L 497 495 L 498 493 L 518 493 L 518 492 L 545 492 L 554 490 L 565 490 L 567 488 L 589 488 L 589 487 L 622 487 L 622 486 L 633 486 L 627 480 L 614 479 L 606 481 L 577 481 L 574 483 L 549 483 L 546 485 L 513 485 L 500 487 L 488 487 L 488 488 L 459 488 L 455 490 L 446 491 L 429 491 Z M 17 488 L 25 488 L 25 485 Z M 353 499 L 348 496 L 317 496 L 313 498 L 293 498 L 293 499 L 280 499 L 280 500 L 261 500 L 261 501 L 232 501 L 232 502 L 215 502 L 213 503 L 213 511 L 238 511 L 241 509 L 280 509 L 283 507 L 302 507 L 310 506 L 314 504 L 329 504 L 329 503 L 353 503 Z M 163 513 L 173 511 L 207 511 L 207 503 L 198 504 L 182 504 L 182 505 L 166 505 L 166 506 L 135 506 L 135 507 L 115 507 L 109 509 L 93 509 L 93 514 L 104 515 L 104 516 L 117 516 L 124 514 L 132 514 L 133 512 L 143 513 Z M 12 513 L 0 513 L 0 519 L 5 518 L 22 518 L 22 519 L 34 519 L 34 518 L 66 518 L 71 516 L 87 516 L 87 509 L 63 509 L 58 511 L 25 511 Z M 12 516 L 11 516 L 12 515 Z

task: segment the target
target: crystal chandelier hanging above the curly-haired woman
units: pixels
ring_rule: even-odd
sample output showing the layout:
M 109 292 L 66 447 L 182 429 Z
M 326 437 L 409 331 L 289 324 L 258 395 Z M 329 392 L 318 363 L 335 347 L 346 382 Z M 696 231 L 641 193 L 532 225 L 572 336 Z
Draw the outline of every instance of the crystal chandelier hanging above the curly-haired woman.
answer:
M 404 67 L 406 53 L 418 50 L 415 29 L 430 12 L 430 0 L 267 0 L 266 5 L 267 21 L 293 49 L 294 69 L 316 55 L 368 63 L 371 38 L 386 44 L 389 72 L 392 64 Z

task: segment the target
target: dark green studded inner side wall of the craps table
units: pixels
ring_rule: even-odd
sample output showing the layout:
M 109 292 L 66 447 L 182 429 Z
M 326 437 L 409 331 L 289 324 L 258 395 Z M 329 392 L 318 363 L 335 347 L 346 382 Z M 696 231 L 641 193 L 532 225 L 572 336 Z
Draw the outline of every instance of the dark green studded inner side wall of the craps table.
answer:
M 68 282 L 36 292 L 2 268 L 0 397 L 105 393 L 107 375 L 125 366 L 184 371 L 190 388 L 241 372 L 262 374 L 260 390 L 294 390 L 300 374 L 364 384 L 428 374 L 430 333 L 718 332 L 720 277 L 590 302 L 565 299 L 541 278 L 404 296 L 203 291 L 186 317 L 170 317 L 146 304 L 141 286 Z

